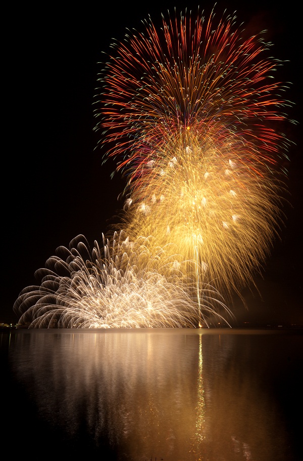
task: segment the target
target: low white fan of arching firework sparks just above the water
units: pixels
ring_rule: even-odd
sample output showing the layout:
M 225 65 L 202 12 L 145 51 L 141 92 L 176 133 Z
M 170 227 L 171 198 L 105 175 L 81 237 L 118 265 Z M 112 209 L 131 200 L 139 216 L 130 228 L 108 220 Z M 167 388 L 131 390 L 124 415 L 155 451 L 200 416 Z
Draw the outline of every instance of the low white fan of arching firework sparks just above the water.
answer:
M 37 271 L 39 286 L 25 288 L 14 310 L 19 324 L 31 328 L 143 328 L 196 326 L 198 307 L 190 296 L 188 283 L 178 265 L 166 258 L 163 250 L 146 238 L 130 242 L 123 233 L 113 243 L 97 242 L 90 252 L 84 236 L 58 253 Z M 166 265 L 169 279 L 160 275 L 159 264 Z M 143 269 L 144 268 L 144 269 Z M 178 283 L 177 283 L 178 280 Z M 211 287 L 201 292 L 203 318 L 222 320 L 225 310 L 220 296 Z

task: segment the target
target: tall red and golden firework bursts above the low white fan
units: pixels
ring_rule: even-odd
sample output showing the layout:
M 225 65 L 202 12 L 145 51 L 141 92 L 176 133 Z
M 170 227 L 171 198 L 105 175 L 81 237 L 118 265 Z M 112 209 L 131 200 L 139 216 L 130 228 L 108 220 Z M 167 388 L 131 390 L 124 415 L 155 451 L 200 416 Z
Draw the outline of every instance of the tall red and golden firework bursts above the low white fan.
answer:
M 289 105 L 262 34 L 235 17 L 145 21 L 114 44 L 97 115 L 127 176 L 125 229 L 173 243 L 188 275 L 229 294 L 252 281 L 282 223 L 276 128 Z M 282 178 L 283 179 L 283 178 Z M 198 268 L 198 269 L 197 269 Z

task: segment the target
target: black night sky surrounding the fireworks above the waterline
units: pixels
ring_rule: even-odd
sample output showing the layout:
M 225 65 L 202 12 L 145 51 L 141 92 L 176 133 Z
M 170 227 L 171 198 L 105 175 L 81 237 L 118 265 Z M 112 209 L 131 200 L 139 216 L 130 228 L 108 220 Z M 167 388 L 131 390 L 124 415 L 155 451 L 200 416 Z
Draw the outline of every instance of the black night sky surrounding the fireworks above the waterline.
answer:
M 243 6 L 245 4 L 245 6 Z M 60 245 L 78 234 L 92 245 L 101 241 L 107 222 L 121 208 L 120 174 L 115 163 L 103 162 L 106 146 L 96 148 L 93 102 L 113 38 L 123 39 L 126 28 L 142 29 L 150 14 L 155 24 L 161 13 L 192 9 L 197 3 L 136 2 L 23 3 L 4 14 L 3 74 L 4 142 L 2 156 L 2 277 L 0 322 L 17 322 L 13 304 L 19 292 L 35 284 L 35 270 Z M 281 241 L 276 241 L 262 280 L 256 281 L 263 300 L 244 292 L 248 311 L 235 308 L 239 321 L 303 324 L 301 308 L 302 154 L 301 154 L 301 22 L 296 2 L 280 6 L 257 0 L 219 2 L 217 14 L 237 10 L 238 23 L 253 31 L 269 29 L 274 57 L 289 60 L 280 79 L 292 82 L 287 98 L 295 103 L 287 124 L 291 206 Z M 200 3 L 211 11 L 212 3 Z

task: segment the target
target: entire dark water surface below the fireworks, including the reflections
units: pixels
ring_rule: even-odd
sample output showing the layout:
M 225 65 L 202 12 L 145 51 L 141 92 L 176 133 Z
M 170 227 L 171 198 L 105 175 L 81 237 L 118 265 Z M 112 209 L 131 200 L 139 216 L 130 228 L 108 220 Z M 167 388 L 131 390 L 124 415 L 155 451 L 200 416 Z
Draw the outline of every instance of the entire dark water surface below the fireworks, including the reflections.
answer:
M 302 331 L 0 333 L 12 459 L 302 459 Z

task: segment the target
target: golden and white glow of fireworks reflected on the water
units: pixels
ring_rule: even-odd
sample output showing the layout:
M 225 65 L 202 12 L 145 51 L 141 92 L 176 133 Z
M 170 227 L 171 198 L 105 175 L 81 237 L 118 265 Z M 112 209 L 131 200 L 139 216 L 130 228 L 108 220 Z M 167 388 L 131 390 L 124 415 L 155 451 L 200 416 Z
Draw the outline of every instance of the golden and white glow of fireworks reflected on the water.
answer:
M 39 415 L 66 440 L 84 431 L 119 460 L 282 460 L 287 434 L 261 386 L 260 338 L 251 338 L 199 329 L 31 330 L 18 332 L 10 353 Z

